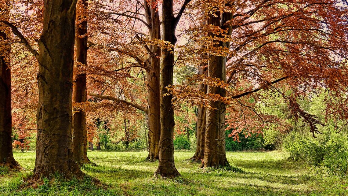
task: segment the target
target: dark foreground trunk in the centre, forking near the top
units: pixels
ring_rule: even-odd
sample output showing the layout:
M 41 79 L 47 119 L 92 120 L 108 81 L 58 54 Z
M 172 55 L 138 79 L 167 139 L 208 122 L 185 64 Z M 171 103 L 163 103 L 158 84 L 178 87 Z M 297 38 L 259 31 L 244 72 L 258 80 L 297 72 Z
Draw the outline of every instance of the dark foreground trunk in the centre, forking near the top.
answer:
M 171 50 L 163 51 L 163 63 L 161 71 L 161 136 L 159 140 L 159 163 L 155 175 L 173 178 L 179 176 L 174 164 L 174 109 L 172 95 L 164 96 L 168 90 L 166 87 L 173 84 L 174 71 L 174 44 L 176 43 L 175 28 L 177 22 L 173 16 L 173 0 L 163 1 L 162 21 L 163 39 L 168 41 Z

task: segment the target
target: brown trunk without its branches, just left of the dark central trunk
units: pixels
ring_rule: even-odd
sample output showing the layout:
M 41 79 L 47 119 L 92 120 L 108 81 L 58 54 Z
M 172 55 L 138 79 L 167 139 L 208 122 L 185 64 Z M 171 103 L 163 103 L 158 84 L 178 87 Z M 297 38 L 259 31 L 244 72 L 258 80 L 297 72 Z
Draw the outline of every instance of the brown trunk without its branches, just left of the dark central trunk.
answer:
M 159 14 L 157 2 L 154 0 L 144 0 L 145 16 L 147 23 L 150 24 L 149 32 L 150 39 L 161 39 L 161 26 L 159 21 Z M 149 155 L 150 161 L 157 160 L 159 157 L 159 137 L 161 131 L 160 125 L 160 56 L 161 48 L 157 45 L 150 46 L 150 57 L 148 59 L 149 65 L 146 75 L 148 81 L 148 118 L 149 118 Z

